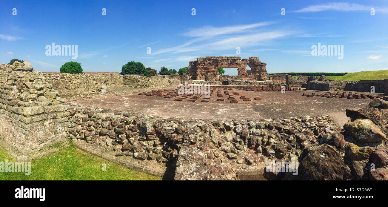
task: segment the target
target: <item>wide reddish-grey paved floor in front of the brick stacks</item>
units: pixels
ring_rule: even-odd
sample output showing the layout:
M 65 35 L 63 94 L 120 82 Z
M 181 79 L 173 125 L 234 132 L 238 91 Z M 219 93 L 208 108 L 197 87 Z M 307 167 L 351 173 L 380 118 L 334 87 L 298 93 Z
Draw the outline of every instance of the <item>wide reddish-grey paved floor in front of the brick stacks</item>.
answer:
M 348 121 L 345 115 L 346 108 L 365 108 L 371 99 L 340 99 L 326 97 L 301 96 L 303 91 L 245 91 L 234 89 L 234 95 L 239 103 L 217 101 L 216 92 L 209 102 L 201 102 L 204 96 L 195 102 L 174 101 L 157 96 L 139 96 L 137 94 L 102 97 L 74 101 L 76 103 L 95 106 L 111 110 L 131 111 L 162 117 L 200 118 L 200 119 L 265 119 L 289 118 L 299 115 L 329 115 L 334 118 L 340 127 Z M 307 92 L 310 94 L 310 92 Z M 322 92 L 325 93 L 325 92 Z M 246 96 L 251 101 L 242 101 L 240 96 Z M 262 100 L 253 100 L 260 96 Z

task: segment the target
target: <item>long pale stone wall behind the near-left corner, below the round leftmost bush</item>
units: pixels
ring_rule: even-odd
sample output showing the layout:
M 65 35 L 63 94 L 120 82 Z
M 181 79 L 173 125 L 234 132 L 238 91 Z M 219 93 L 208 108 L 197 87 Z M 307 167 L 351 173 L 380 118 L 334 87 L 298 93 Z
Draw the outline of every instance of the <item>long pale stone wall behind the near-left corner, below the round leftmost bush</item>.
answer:
M 123 87 L 119 73 L 47 73 L 42 76 L 62 95 L 90 94 L 101 92 L 101 87 Z

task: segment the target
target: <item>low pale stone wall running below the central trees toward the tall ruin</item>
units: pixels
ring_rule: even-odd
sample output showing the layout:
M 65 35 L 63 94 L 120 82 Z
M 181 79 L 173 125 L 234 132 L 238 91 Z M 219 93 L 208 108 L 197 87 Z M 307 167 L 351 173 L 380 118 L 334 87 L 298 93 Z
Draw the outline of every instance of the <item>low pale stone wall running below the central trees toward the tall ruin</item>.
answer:
M 125 75 L 123 76 L 124 87 L 131 88 L 166 88 L 177 87 L 180 84 L 180 80 L 177 78 L 160 78 L 160 77 L 146 77 L 137 75 Z

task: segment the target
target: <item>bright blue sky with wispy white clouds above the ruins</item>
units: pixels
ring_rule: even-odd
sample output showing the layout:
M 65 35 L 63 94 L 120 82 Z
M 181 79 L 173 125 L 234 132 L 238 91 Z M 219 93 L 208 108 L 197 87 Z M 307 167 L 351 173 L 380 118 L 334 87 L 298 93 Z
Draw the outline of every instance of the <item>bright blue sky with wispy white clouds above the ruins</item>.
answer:
M 84 71 L 119 72 L 137 61 L 159 71 L 178 70 L 197 57 L 257 56 L 268 73 L 386 70 L 387 21 L 386 0 L 1 0 L 0 63 L 18 58 L 35 70 L 59 71 L 77 61 Z M 53 42 L 78 45 L 78 58 L 46 56 Z M 343 45 L 343 59 L 312 56 L 318 43 Z

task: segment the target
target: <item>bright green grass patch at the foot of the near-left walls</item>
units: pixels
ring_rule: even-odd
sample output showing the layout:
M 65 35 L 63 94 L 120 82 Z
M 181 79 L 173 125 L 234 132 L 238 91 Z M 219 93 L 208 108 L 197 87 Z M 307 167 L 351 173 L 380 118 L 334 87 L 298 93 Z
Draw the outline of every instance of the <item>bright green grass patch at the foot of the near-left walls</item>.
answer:
M 0 147 L 0 162 L 14 158 Z M 102 170 L 106 164 L 106 171 Z M 31 161 L 31 174 L 0 172 L 0 180 L 161 180 L 161 177 L 131 170 L 90 153 L 74 144 L 58 152 Z

